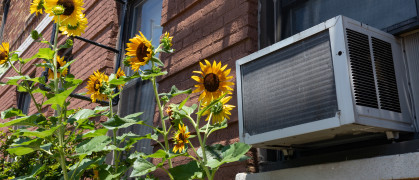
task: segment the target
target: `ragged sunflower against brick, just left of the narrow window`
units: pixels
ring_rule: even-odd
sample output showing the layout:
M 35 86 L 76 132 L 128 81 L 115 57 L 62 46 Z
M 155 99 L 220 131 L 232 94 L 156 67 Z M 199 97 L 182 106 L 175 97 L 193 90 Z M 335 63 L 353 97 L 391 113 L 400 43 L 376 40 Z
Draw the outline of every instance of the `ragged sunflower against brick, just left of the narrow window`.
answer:
M 106 87 L 105 84 L 108 82 L 109 78 L 104 73 L 98 71 L 94 72 L 90 77 L 89 81 L 87 82 L 87 94 L 91 94 L 90 98 L 92 102 L 96 102 L 98 100 L 105 100 L 107 96 L 103 94 Z

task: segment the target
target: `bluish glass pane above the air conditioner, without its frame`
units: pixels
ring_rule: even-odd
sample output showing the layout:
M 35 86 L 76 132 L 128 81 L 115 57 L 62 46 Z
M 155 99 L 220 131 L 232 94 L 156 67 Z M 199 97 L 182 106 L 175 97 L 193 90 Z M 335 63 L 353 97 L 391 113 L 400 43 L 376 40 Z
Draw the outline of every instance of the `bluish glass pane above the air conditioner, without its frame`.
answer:
M 285 6 L 284 36 L 299 33 L 337 15 L 383 29 L 417 16 L 415 0 L 310 0 Z

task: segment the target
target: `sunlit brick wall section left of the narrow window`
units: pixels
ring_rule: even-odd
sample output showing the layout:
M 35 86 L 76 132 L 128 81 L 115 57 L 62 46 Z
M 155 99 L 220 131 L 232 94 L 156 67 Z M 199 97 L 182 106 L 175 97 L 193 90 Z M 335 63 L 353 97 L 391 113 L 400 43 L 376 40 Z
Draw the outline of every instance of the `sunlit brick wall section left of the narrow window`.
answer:
M 23 43 L 23 41 L 30 36 L 30 32 L 44 19 L 46 14 L 35 16 L 30 14 L 29 6 L 31 1 L 25 0 L 12 0 L 10 2 L 10 9 L 8 18 L 4 28 L 3 39 L 4 42 L 9 42 L 11 45 L 11 51 L 16 50 Z M 88 18 L 88 27 L 85 33 L 81 36 L 96 41 L 98 43 L 116 47 L 117 35 L 118 35 L 118 20 L 119 11 L 115 1 L 103 1 L 103 0 L 85 0 L 84 1 L 84 13 Z M 117 12 L 118 11 L 118 12 Z M 44 38 L 49 40 L 52 33 L 52 23 L 50 23 L 43 32 Z M 59 43 L 63 43 L 67 37 L 59 36 Z M 34 55 L 39 48 L 47 47 L 44 44 L 32 43 L 29 48 L 22 52 L 21 57 L 28 58 Z M 73 47 L 73 58 L 77 59 L 71 65 L 71 73 L 76 78 L 83 79 L 84 82 L 79 86 L 76 91 L 77 93 L 86 92 L 84 88 L 88 77 L 96 70 L 106 72 L 110 74 L 113 72 L 113 66 L 115 61 L 115 53 L 105 50 L 103 48 L 85 43 L 80 40 L 74 40 Z M 35 60 L 36 61 L 36 60 Z M 40 60 L 37 60 L 40 61 Z M 35 69 L 32 65 L 27 65 L 24 68 L 25 74 L 34 75 L 36 77 L 41 76 L 43 69 Z M 1 82 L 6 82 L 10 76 L 17 75 L 12 69 L 9 69 L 2 77 Z M 41 100 L 41 96 L 36 96 L 37 101 Z M 17 91 L 16 87 L 3 86 L 0 87 L 0 111 L 8 109 L 10 107 L 17 107 Z M 92 108 L 97 104 L 93 104 L 89 101 L 82 101 L 73 99 L 71 101 L 70 108 Z M 44 111 L 52 113 L 52 110 L 48 107 L 44 108 Z M 29 113 L 33 114 L 36 112 L 36 108 L 33 102 L 31 102 Z

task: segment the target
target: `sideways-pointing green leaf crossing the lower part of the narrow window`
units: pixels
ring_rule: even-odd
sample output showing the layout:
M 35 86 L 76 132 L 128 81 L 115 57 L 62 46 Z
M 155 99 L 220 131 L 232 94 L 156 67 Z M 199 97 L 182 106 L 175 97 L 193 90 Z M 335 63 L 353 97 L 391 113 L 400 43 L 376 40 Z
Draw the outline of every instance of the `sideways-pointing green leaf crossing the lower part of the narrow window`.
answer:
M 119 116 L 115 115 L 114 117 L 108 119 L 108 121 L 102 123 L 103 127 L 107 129 L 120 129 L 126 128 L 133 124 L 143 124 L 144 121 L 141 121 L 137 116 L 141 115 L 140 113 L 131 114 L 125 116 L 124 118 L 120 118 Z

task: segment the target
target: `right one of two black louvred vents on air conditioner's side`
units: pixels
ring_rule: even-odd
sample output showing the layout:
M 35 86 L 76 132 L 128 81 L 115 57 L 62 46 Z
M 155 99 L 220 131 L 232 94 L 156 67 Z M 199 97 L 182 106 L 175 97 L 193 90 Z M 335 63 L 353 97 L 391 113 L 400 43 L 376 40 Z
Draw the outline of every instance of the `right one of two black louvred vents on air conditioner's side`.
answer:
M 391 44 L 375 37 L 371 39 L 380 107 L 401 112 Z

